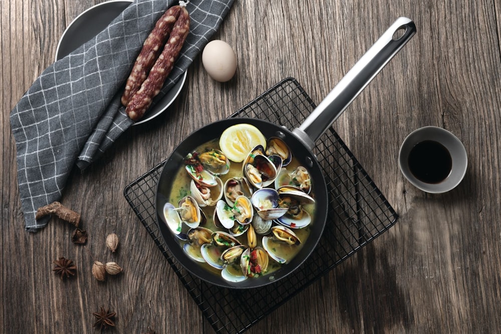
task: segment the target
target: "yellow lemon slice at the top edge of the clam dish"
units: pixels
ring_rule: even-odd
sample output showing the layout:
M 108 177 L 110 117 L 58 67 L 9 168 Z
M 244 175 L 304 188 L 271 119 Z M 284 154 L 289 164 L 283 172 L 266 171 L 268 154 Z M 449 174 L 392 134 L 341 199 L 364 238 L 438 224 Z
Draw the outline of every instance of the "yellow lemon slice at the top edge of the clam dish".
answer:
M 242 162 L 257 145 L 263 145 L 266 149 L 266 138 L 258 128 L 250 124 L 232 125 L 219 138 L 222 153 L 234 162 Z

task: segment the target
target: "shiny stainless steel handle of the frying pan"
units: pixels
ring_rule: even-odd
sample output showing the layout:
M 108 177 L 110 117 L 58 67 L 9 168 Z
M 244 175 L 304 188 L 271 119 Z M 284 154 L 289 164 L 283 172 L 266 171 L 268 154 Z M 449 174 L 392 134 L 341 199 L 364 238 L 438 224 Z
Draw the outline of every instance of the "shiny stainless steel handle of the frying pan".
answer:
M 313 149 L 315 142 L 331 127 L 383 67 L 414 36 L 416 26 L 408 18 L 398 18 L 374 43 L 327 97 L 320 102 L 293 133 Z

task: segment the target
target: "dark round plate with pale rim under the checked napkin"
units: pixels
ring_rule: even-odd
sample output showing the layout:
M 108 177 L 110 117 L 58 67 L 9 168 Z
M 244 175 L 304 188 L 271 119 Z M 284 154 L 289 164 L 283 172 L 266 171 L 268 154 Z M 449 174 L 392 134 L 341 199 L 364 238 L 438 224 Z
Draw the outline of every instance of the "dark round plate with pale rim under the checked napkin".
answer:
M 56 60 L 64 58 L 73 50 L 89 41 L 105 29 L 120 13 L 132 3 L 128 0 L 114 0 L 93 6 L 81 13 L 66 28 L 56 49 Z M 152 106 L 143 119 L 134 125 L 145 123 L 160 115 L 177 98 L 186 81 L 186 72 L 165 96 Z

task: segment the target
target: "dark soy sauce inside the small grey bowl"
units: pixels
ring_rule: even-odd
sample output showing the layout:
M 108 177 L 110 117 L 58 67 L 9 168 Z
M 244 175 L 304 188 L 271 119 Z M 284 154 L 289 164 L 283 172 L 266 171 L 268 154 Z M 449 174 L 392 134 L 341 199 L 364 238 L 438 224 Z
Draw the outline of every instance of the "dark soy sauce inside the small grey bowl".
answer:
M 408 163 L 411 173 L 425 183 L 442 182 L 452 169 L 449 151 L 433 140 L 417 143 L 409 152 Z

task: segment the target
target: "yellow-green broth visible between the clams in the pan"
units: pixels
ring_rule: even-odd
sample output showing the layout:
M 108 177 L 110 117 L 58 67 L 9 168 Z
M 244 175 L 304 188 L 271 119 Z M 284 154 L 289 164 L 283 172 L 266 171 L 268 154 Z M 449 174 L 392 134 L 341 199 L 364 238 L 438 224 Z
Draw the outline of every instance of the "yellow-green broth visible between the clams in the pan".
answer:
M 202 144 L 198 146 L 195 151 L 196 152 L 204 152 L 206 150 L 210 149 L 219 149 L 219 144 L 218 144 L 218 139 L 211 140 L 205 144 Z M 176 175 L 174 176 L 174 182 L 172 183 L 171 191 L 169 195 L 167 196 L 169 203 L 173 204 L 175 207 L 178 207 L 178 203 L 183 198 L 184 196 L 191 195 L 190 192 L 190 182 L 191 182 L 191 177 L 188 175 L 188 173 L 185 170 L 184 163 L 181 162 L 181 166 L 179 167 L 179 170 L 177 171 Z M 293 171 L 296 169 L 296 167 L 299 166 L 299 162 L 297 159 L 293 157 L 291 163 L 287 165 L 285 168 L 289 171 Z M 235 177 L 235 176 L 243 176 L 242 175 L 242 163 L 236 163 L 233 161 L 230 161 L 230 170 L 227 174 L 225 175 L 220 175 L 219 178 L 222 180 L 222 183 L 226 182 L 229 178 Z M 273 186 L 273 185 L 272 185 Z M 312 185 L 314 186 L 314 185 Z M 314 192 L 310 193 L 310 196 L 314 196 Z M 224 194 L 221 198 L 224 200 Z M 312 222 L 310 225 L 301 228 L 301 229 L 292 229 L 293 232 L 299 237 L 301 240 L 300 245 L 288 245 L 286 243 L 281 243 L 281 242 L 275 242 L 274 247 L 278 248 L 278 251 L 280 252 L 279 256 L 282 258 L 287 259 L 287 262 L 290 262 L 294 256 L 301 250 L 303 245 L 307 242 L 308 236 L 310 235 L 310 226 L 313 224 L 314 221 L 314 215 L 315 215 L 315 205 L 304 205 L 303 206 L 304 210 L 307 211 L 311 216 L 312 216 Z M 214 220 L 213 220 L 213 214 L 215 210 L 215 206 L 205 206 L 200 208 L 203 213 L 205 214 L 207 218 L 207 222 L 203 225 L 203 227 L 210 229 L 211 231 L 224 231 L 227 232 L 227 230 L 224 227 L 216 227 L 214 225 Z M 254 210 L 254 214 L 257 214 L 256 209 Z M 182 232 L 186 233 L 189 230 L 189 227 L 186 224 L 182 224 Z M 274 223 L 275 225 L 275 223 Z M 268 235 L 271 235 L 269 233 Z M 258 237 L 258 246 L 262 246 L 262 237 L 263 235 L 257 234 Z M 242 235 L 236 237 L 236 239 L 243 245 L 247 245 L 247 233 L 243 233 Z M 183 240 L 178 240 L 179 245 L 182 247 L 187 241 Z M 196 262 L 202 267 L 206 268 L 207 270 L 214 272 L 216 274 L 220 273 L 220 270 L 213 268 L 207 263 L 204 262 Z M 268 264 L 268 269 L 264 273 L 270 274 L 276 270 L 278 270 L 281 266 L 287 265 L 285 264 L 280 264 L 277 261 L 275 261 L 272 257 L 269 256 L 269 264 Z

